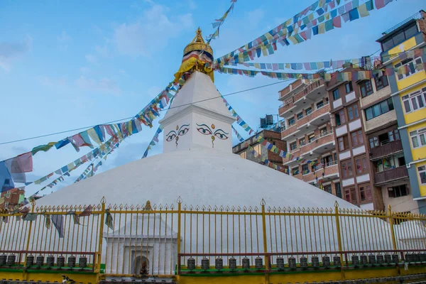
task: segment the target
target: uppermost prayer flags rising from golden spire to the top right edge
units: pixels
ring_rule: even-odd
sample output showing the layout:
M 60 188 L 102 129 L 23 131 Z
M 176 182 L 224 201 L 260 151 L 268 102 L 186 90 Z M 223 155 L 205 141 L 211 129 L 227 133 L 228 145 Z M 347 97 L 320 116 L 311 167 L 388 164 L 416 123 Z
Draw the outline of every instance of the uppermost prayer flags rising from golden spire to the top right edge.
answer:
M 376 3 L 376 9 L 381 9 L 391 3 L 392 0 L 376 1 L 380 2 L 378 6 Z M 353 0 L 342 6 L 339 6 L 340 1 L 337 0 L 322 0 L 322 2 L 324 5 L 328 4 L 332 10 L 327 11 L 328 8 L 324 8 L 324 6 L 318 8 L 320 6 L 318 5 L 315 7 L 318 14 L 317 18 L 311 13 L 302 18 L 302 20 L 294 21 L 294 18 L 289 19 L 268 33 L 241 46 L 241 48 L 217 58 L 214 60 L 214 65 L 222 65 L 231 59 L 237 62 L 246 62 L 256 57 L 271 55 L 277 50 L 277 43 L 282 46 L 290 45 L 290 42 L 293 44 L 302 43 L 309 40 L 312 35 L 326 33 L 334 28 L 341 28 L 342 19 L 345 23 L 355 21 L 358 18 L 368 16 L 368 11 L 374 9 L 373 0 L 368 0 L 362 4 L 359 3 L 359 0 Z M 337 5 L 334 2 L 338 2 Z

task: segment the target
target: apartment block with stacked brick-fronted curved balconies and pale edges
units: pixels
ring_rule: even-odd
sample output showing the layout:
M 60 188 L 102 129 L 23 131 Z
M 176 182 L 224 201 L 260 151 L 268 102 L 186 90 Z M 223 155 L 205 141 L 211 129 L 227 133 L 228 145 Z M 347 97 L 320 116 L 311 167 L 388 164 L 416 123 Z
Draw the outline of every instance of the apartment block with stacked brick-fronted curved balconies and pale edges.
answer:
M 296 80 L 279 92 L 278 113 L 285 120 L 281 139 L 293 158 L 283 158 L 290 175 L 342 197 L 330 105 L 324 81 Z M 300 163 L 317 161 L 315 165 Z

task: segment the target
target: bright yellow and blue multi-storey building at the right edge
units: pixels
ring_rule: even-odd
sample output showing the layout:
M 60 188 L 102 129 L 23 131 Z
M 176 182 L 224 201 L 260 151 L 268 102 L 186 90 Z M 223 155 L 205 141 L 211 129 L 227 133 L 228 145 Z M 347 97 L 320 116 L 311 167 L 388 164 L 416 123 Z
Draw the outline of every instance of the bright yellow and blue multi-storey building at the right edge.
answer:
M 398 131 L 393 129 L 393 138 L 398 133 L 403 147 L 403 156 L 395 155 L 397 159 L 388 163 L 395 167 L 398 176 L 405 174 L 398 165 L 406 164 L 410 180 L 409 186 L 395 187 L 389 197 L 413 197 L 413 200 L 400 201 L 409 204 L 403 211 L 426 213 L 426 73 L 422 67 L 426 62 L 426 12 L 420 11 L 382 35 L 377 41 L 381 43 L 383 67 L 405 68 L 388 76 L 398 121 Z M 404 54 L 401 56 L 401 53 Z M 366 109 L 366 119 L 376 116 L 378 110 L 376 105 Z

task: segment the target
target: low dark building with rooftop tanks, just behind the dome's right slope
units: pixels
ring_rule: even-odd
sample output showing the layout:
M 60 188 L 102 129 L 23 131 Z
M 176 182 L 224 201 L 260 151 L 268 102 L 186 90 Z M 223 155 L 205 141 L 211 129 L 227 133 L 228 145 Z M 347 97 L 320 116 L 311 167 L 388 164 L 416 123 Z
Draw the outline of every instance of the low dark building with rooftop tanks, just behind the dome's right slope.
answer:
M 280 132 L 264 129 L 258 132 L 258 136 L 265 138 L 267 141 L 269 141 L 269 143 L 272 143 L 278 149 L 286 148 L 285 141 L 281 140 Z M 261 157 L 257 157 L 256 155 L 253 155 L 253 153 L 247 151 L 247 143 L 249 143 L 249 145 L 254 148 L 254 151 L 261 154 Z M 250 138 L 246 139 L 246 141 L 236 144 L 236 146 L 232 147 L 232 153 L 240 155 L 241 158 L 253 160 L 253 162 L 260 164 L 263 164 L 262 158 L 266 158 L 270 162 L 276 163 L 278 165 L 281 165 L 283 162 L 278 153 L 269 151 L 265 146 L 259 143 L 256 139 L 256 135 L 251 136 Z

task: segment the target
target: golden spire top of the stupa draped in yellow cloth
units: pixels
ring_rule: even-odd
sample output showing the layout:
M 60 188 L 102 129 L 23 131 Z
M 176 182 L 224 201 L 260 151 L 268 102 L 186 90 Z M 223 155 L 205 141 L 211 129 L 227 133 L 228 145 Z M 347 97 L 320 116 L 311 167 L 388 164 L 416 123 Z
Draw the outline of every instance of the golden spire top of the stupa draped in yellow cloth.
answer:
M 204 41 L 201 28 L 198 28 L 195 38 L 183 50 L 182 64 L 175 73 L 175 82 L 179 82 L 182 76 L 190 75 L 195 70 L 209 75 L 214 82 L 212 61 L 212 47 Z

